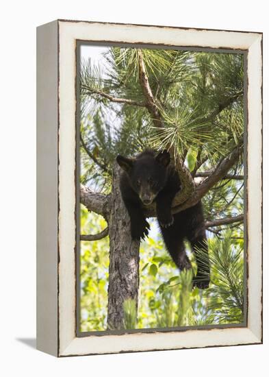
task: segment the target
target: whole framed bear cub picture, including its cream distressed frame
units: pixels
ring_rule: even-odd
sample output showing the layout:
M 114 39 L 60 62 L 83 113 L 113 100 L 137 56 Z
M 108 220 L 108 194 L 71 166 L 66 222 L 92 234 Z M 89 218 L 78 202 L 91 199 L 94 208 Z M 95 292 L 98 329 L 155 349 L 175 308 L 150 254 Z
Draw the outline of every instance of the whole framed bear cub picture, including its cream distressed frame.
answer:
M 37 348 L 262 342 L 262 34 L 37 29 Z

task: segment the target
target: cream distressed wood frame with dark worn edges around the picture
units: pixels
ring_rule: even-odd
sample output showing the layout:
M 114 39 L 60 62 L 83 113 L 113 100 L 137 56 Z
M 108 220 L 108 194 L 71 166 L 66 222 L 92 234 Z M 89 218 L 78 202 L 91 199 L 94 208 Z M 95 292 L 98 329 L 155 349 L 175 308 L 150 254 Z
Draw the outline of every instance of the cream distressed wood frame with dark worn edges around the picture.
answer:
M 76 46 L 81 41 L 246 51 L 245 327 L 76 332 Z M 37 348 L 54 356 L 262 342 L 262 34 L 57 20 L 37 30 Z

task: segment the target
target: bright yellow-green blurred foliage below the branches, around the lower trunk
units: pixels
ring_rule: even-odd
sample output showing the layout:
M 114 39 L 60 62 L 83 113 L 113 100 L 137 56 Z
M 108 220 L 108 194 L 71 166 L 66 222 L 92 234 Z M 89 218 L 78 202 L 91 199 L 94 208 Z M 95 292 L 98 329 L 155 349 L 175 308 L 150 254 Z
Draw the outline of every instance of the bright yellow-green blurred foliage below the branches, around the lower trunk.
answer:
M 103 217 L 81 208 L 81 232 L 100 232 Z M 138 319 L 132 303 L 125 307 L 126 328 L 158 328 L 237 324 L 244 313 L 244 243 L 233 239 L 235 231 L 222 232 L 223 239 L 209 238 L 211 283 L 204 291 L 192 290 L 192 271 L 179 271 L 166 253 L 151 219 L 149 237 L 140 246 Z M 188 247 L 188 245 L 187 245 Z M 188 250 L 190 250 L 188 248 Z M 188 252 L 194 270 L 193 255 Z M 106 330 L 109 237 L 81 241 L 81 331 Z

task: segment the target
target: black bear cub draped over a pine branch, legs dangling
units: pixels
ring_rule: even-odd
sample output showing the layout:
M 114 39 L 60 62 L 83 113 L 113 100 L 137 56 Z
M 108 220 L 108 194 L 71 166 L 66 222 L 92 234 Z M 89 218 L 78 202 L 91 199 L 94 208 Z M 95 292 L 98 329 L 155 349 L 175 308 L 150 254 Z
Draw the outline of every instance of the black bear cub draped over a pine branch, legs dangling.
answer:
M 190 241 L 197 263 L 194 286 L 207 288 L 209 260 L 202 204 L 198 202 L 172 215 L 172 200 L 181 189 L 181 182 L 175 167 L 170 164 L 169 152 L 156 153 L 146 149 L 136 158 L 118 155 L 116 160 L 123 169 L 120 191 L 131 218 L 132 239 L 144 239 L 149 233 L 143 207 L 155 202 L 159 227 L 172 260 L 180 270 L 192 267 L 183 242 L 184 239 Z M 203 258 L 196 248 L 203 250 Z

